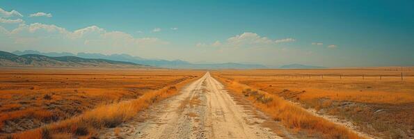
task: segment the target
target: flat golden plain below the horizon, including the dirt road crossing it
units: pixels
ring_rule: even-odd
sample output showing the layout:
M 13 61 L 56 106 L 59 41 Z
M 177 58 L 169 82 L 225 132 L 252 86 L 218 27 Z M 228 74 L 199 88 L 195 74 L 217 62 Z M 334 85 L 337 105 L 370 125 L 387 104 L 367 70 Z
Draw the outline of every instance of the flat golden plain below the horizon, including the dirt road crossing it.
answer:
M 0 138 L 413 138 L 412 67 L 4 68 L 0 82 Z

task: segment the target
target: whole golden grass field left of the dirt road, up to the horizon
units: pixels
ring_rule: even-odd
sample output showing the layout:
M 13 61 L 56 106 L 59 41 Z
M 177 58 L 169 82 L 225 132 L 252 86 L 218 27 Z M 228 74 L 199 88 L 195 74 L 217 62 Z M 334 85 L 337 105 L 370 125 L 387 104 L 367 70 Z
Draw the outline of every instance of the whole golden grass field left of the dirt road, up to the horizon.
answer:
M 141 107 L 173 95 L 181 85 L 203 73 L 196 70 L 3 68 L 0 70 L 0 136 L 54 122 L 74 122 L 74 117 L 126 120 L 132 117 L 127 112 L 134 115 Z M 126 108 L 126 113 L 119 113 L 119 106 Z M 127 111 L 127 108 L 134 111 Z M 116 124 L 106 122 L 102 126 Z M 71 125 L 69 128 L 79 129 Z M 89 126 L 85 124 L 82 128 Z M 44 128 L 40 130 L 45 131 Z M 89 134 L 88 130 L 80 133 L 82 136 Z

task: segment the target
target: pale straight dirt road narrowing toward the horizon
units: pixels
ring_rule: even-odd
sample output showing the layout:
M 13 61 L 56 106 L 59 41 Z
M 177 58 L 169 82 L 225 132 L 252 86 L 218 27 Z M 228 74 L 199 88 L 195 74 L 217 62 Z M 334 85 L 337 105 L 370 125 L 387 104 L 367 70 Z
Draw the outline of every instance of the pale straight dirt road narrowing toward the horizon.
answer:
M 101 138 L 280 138 L 262 126 L 269 118 L 253 111 L 237 104 L 207 72 Z

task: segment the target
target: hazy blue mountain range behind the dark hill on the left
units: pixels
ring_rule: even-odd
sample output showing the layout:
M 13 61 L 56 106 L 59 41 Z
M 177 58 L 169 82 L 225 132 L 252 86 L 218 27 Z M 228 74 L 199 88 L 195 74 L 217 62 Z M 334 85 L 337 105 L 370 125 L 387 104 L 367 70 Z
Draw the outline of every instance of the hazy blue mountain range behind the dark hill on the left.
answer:
M 108 60 L 126 61 L 130 63 L 136 63 L 141 65 L 151 65 L 154 67 L 166 67 L 175 69 L 264 69 L 267 68 L 264 65 L 259 64 L 246 64 L 246 63 L 189 63 L 184 60 L 159 60 L 159 59 L 147 59 L 138 56 L 130 56 L 128 54 L 88 54 L 88 53 L 42 53 L 39 51 L 14 51 L 13 54 L 41 54 L 44 56 L 77 56 L 80 58 L 100 58 Z

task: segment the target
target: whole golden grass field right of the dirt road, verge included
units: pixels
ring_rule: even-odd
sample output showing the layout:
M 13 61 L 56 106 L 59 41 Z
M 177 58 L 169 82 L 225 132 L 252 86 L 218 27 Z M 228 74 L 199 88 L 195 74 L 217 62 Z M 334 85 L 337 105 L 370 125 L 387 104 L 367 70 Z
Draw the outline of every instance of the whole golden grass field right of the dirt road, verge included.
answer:
M 414 137 L 414 68 L 382 67 L 328 70 L 221 70 L 212 74 L 229 90 L 251 97 L 253 101 L 287 100 L 320 115 L 338 118 L 344 125 L 379 138 Z M 246 90 L 250 88 L 250 90 Z M 258 90 L 257 92 L 255 90 Z M 265 95 L 260 95 L 264 93 Z M 268 93 L 268 94 L 266 94 Z M 259 94 L 259 95 L 257 95 Z M 267 98 L 269 97 L 269 98 Z M 281 100 L 279 100 L 281 99 Z M 273 103 L 272 101 L 272 103 Z M 278 102 L 280 103 L 280 102 Z M 257 103 L 286 126 L 321 131 L 283 119 L 285 104 Z M 264 105 L 262 105 L 264 104 Z M 289 108 L 287 110 L 290 110 Z M 351 124 L 349 124 L 351 122 Z M 308 126 L 306 126 L 306 125 Z M 328 130 L 330 131 L 330 129 Z

